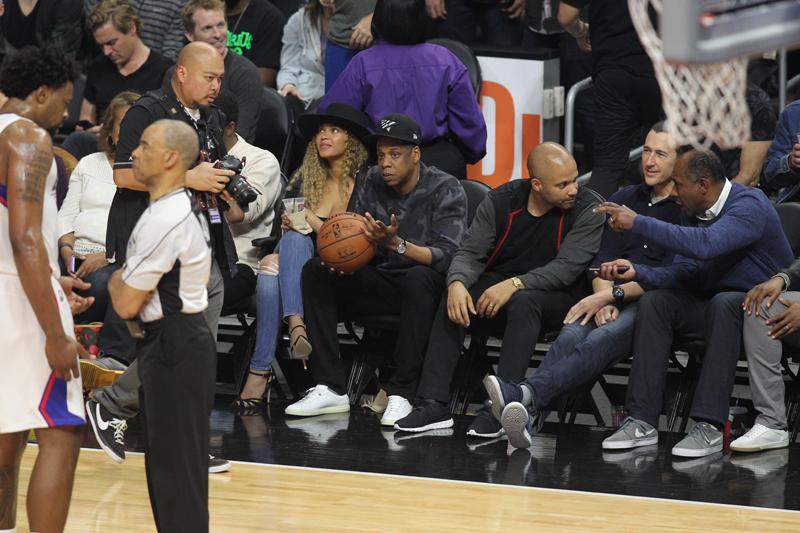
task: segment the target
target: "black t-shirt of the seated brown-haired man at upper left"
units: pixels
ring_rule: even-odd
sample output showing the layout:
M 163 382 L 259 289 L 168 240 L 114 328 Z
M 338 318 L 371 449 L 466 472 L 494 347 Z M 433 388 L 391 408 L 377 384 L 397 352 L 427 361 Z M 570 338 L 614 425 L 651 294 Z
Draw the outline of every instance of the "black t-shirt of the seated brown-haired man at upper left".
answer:
M 172 62 L 169 59 L 150 50 L 147 61 L 136 72 L 123 76 L 113 61 L 104 55 L 97 56 L 89 67 L 83 90 L 83 97 L 97 107 L 95 122 L 100 124 L 103 121 L 108 104 L 120 92 L 144 94 L 161 87 L 161 80 L 170 66 Z

